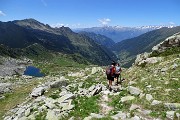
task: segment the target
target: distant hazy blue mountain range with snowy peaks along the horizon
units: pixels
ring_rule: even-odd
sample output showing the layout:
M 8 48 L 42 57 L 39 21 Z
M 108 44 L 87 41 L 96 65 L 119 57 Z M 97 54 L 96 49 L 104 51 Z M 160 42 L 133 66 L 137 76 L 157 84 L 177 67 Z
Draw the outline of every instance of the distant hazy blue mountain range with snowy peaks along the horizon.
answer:
M 125 27 L 125 26 L 102 26 L 102 27 L 91 27 L 75 30 L 76 32 L 86 31 L 93 32 L 96 34 L 101 34 L 107 36 L 114 40 L 115 42 L 120 42 L 125 39 L 130 39 L 137 37 L 146 32 L 160 29 L 163 27 L 173 28 L 174 25 L 148 25 L 148 26 L 138 26 L 138 27 Z

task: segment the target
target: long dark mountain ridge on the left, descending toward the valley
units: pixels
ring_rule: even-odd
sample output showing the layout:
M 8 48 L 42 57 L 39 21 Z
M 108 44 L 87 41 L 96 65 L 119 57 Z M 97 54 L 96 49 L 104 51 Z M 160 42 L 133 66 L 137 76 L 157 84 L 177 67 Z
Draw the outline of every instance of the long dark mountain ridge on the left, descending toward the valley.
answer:
M 51 28 L 34 19 L 0 22 L 0 43 L 10 48 L 25 48 L 38 43 L 65 54 L 80 54 L 94 64 L 108 64 L 116 56 L 92 39 L 68 27 Z

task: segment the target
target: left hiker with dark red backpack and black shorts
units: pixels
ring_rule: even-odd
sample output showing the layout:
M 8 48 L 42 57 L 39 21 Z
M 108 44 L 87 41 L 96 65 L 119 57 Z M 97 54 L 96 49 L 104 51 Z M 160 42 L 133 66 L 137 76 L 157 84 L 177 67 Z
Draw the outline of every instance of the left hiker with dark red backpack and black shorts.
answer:
M 107 79 L 109 80 L 109 85 L 108 85 L 109 90 L 112 90 L 112 88 L 111 88 L 111 86 L 112 86 L 112 81 L 114 81 L 115 71 L 116 71 L 115 65 L 116 65 L 116 63 L 115 63 L 115 62 L 112 62 L 111 66 L 109 66 L 109 67 L 106 69 Z

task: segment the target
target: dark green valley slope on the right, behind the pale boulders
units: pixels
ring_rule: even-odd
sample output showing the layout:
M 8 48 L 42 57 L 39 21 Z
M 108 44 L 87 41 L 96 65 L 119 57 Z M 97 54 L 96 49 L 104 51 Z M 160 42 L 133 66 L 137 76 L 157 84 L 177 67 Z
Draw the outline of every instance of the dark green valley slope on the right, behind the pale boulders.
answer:
M 174 28 L 161 28 L 132 39 L 123 40 L 122 42 L 115 44 L 112 47 L 112 50 L 118 54 L 120 62 L 125 67 L 129 67 L 137 54 L 151 51 L 153 46 L 179 31 L 180 26 Z

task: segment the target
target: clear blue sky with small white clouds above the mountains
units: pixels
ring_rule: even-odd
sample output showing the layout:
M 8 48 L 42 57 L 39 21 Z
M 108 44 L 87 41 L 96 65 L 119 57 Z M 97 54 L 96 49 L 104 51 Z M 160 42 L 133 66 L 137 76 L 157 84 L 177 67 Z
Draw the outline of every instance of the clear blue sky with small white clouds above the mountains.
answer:
M 0 0 L 0 21 L 34 18 L 51 26 L 180 25 L 180 0 Z

